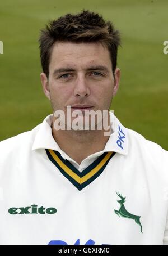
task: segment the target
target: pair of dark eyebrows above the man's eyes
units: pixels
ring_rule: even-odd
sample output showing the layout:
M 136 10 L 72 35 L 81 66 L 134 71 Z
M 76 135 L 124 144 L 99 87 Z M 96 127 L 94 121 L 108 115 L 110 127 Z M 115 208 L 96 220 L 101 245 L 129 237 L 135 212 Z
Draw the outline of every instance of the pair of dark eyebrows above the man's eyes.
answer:
M 85 69 L 85 71 L 94 71 L 94 70 L 100 70 L 104 71 L 106 73 L 109 73 L 109 69 L 106 66 L 98 65 L 98 66 L 89 66 L 88 68 Z M 55 69 L 53 72 L 53 75 L 57 75 L 59 73 L 68 73 L 68 72 L 74 72 L 76 69 L 72 68 L 59 68 Z

